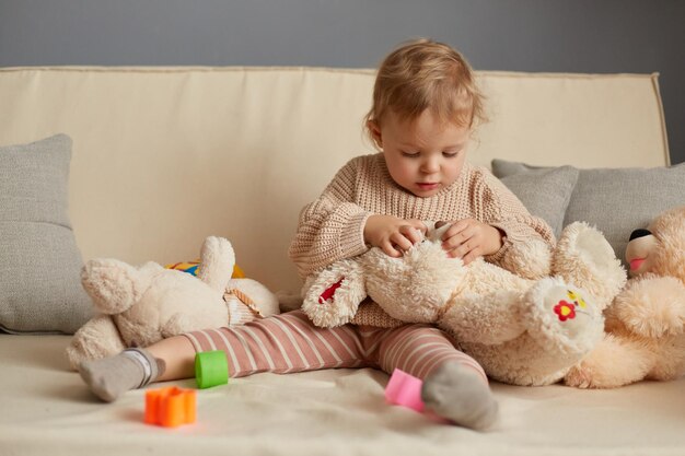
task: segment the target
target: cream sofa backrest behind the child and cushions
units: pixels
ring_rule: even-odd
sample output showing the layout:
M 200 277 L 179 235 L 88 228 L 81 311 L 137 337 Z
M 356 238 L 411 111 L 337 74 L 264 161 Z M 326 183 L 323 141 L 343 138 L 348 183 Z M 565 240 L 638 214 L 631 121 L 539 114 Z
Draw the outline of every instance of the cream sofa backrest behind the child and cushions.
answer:
M 190 260 L 207 235 L 272 290 L 297 292 L 298 214 L 363 137 L 373 71 L 0 69 L 0 144 L 73 139 L 70 217 L 83 258 Z M 490 121 L 471 161 L 669 162 L 657 74 L 480 72 Z

